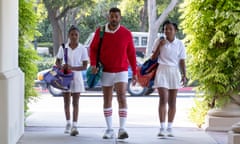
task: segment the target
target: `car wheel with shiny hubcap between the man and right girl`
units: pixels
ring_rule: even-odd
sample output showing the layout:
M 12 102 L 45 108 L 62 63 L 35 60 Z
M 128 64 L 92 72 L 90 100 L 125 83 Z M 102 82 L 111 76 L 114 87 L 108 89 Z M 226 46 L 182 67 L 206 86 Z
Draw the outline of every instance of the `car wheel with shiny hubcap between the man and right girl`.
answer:
M 143 96 L 147 88 L 142 87 L 139 83 L 136 83 L 135 86 L 132 84 L 132 79 L 128 80 L 128 93 L 131 96 Z

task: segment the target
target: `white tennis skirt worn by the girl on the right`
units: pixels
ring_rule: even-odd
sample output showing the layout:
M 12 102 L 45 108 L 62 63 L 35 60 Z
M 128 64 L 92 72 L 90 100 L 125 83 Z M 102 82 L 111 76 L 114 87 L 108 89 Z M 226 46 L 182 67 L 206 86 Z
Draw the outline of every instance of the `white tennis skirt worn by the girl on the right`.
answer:
M 179 89 L 181 87 L 181 75 L 178 67 L 158 65 L 153 87 Z

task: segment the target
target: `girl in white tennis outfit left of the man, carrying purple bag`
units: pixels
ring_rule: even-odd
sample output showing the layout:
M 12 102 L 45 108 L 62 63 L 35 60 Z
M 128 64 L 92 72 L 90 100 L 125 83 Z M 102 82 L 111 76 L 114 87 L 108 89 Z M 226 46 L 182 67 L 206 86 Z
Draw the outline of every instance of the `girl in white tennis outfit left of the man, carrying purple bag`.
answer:
M 88 52 L 87 48 L 83 47 L 79 43 L 79 29 L 72 26 L 68 32 L 69 42 L 66 44 L 67 48 L 67 64 L 64 62 L 64 50 L 59 48 L 57 54 L 56 65 L 63 69 L 69 69 L 73 71 L 74 77 L 68 91 L 63 91 L 64 98 L 64 111 L 66 117 L 65 133 L 75 136 L 78 134 L 77 121 L 78 121 L 78 103 L 80 93 L 84 92 L 84 82 L 82 77 L 82 70 L 86 70 L 88 64 Z M 63 63 L 62 63 L 63 61 Z M 63 65 L 62 65 L 63 64 Z M 72 97 L 72 102 L 71 102 Z M 70 104 L 73 105 L 73 123 L 71 124 Z

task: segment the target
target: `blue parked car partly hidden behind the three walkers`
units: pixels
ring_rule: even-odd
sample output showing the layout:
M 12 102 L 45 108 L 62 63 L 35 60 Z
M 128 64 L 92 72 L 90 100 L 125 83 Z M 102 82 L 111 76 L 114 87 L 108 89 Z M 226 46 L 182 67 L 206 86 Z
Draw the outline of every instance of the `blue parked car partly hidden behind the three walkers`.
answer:
M 137 58 L 137 65 L 141 65 L 141 58 Z M 46 69 L 43 71 L 38 72 L 37 74 L 37 80 L 35 80 L 35 85 L 36 87 L 41 87 L 41 89 L 43 90 L 48 90 L 53 96 L 62 96 L 62 91 L 54 88 L 53 86 L 47 84 L 44 79 L 43 79 L 43 75 L 45 73 L 47 73 L 50 69 Z M 86 70 L 82 71 L 82 75 L 83 75 L 83 80 L 84 80 L 84 85 L 86 90 L 101 90 L 101 82 L 99 81 L 99 83 L 94 87 L 94 88 L 89 88 L 87 85 L 87 76 L 86 76 Z M 133 86 L 132 85 L 132 70 L 129 67 L 128 68 L 128 87 L 127 87 L 127 91 L 131 96 L 142 96 L 144 95 L 144 93 L 147 91 L 147 88 L 143 88 L 141 85 L 139 85 L 138 83 Z

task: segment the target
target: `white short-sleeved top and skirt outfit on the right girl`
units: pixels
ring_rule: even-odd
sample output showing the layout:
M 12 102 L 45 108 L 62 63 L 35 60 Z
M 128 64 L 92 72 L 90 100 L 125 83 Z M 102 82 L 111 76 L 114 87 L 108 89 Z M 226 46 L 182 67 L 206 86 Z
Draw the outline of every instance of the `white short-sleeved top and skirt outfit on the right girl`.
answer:
M 154 42 L 153 51 L 156 50 L 160 40 Z M 182 41 L 175 38 L 173 42 L 167 43 L 161 47 L 158 56 L 158 68 L 154 80 L 154 88 L 164 87 L 167 89 L 178 89 L 181 87 L 181 75 L 179 71 L 179 62 L 186 59 L 185 47 Z

